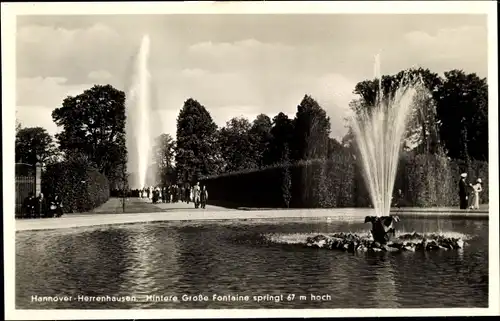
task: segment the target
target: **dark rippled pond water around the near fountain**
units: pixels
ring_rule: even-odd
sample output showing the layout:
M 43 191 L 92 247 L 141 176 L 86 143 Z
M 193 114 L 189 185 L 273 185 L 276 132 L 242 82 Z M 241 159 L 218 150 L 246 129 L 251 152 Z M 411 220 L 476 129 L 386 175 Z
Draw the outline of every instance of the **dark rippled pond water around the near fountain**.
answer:
M 466 246 L 349 254 L 287 244 L 317 233 L 368 233 L 360 218 L 18 232 L 16 308 L 488 306 L 487 220 L 405 217 L 398 224 L 403 232 L 462 236 Z

